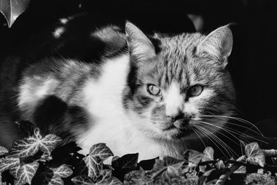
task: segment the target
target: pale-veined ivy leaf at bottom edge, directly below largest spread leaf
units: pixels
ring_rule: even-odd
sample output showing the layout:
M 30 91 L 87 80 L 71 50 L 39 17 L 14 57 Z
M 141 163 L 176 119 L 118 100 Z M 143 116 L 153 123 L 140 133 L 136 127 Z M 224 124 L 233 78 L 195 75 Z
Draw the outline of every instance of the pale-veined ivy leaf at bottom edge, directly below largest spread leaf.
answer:
M 38 167 L 39 163 L 36 161 L 30 164 L 24 164 L 23 166 L 20 166 L 20 168 L 17 169 L 16 174 L 18 181 L 22 184 L 31 184 Z

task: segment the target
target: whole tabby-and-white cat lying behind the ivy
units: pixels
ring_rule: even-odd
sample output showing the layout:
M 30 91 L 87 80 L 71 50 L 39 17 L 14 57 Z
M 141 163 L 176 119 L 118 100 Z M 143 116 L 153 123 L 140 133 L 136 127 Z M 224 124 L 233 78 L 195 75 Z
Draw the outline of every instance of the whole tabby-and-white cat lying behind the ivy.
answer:
M 61 19 L 54 39 L 65 37 L 70 21 Z M 125 30 L 109 25 L 84 34 L 95 44 L 91 58 L 61 52 L 28 64 L 15 57 L 2 62 L 0 140 L 19 138 L 11 122 L 26 120 L 75 141 L 83 154 L 106 143 L 118 156 L 181 159 L 189 141 L 217 132 L 233 114 L 228 25 L 208 35 L 146 35 L 127 21 Z M 105 49 L 93 51 L 99 47 Z

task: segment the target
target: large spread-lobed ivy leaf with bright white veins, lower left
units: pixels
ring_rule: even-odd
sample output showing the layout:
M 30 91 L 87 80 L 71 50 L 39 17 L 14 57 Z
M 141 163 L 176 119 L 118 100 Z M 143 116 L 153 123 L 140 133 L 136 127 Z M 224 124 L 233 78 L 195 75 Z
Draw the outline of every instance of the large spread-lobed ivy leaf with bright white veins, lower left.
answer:
M 53 149 L 61 141 L 62 139 L 54 134 L 48 134 L 42 139 L 42 136 L 39 134 L 39 128 L 35 128 L 33 136 L 17 140 L 12 144 L 10 155 L 12 157 L 30 157 L 35 155 L 38 150 L 51 155 Z

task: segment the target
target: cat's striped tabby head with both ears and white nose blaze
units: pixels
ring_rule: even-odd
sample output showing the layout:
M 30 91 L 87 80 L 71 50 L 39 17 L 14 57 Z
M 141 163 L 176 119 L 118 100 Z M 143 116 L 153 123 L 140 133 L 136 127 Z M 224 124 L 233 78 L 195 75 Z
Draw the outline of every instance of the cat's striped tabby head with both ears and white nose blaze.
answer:
M 226 70 L 233 45 L 229 26 L 207 36 L 147 37 L 129 22 L 125 31 L 131 67 L 123 103 L 134 126 L 169 140 L 219 130 L 233 113 L 235 101 Z

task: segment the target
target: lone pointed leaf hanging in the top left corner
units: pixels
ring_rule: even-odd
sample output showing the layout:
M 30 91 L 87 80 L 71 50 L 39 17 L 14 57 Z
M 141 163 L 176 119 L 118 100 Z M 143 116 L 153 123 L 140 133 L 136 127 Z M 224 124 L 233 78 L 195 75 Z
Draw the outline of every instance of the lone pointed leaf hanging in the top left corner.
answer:
M 17 17 L 23 13 L 28 7 L 30 0 L 1 0 L 0 12 L 4 15 L 8 21 L 8 27 L 10 28 L 15 22 Z

